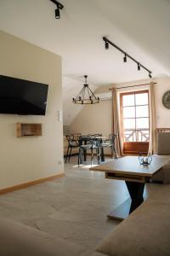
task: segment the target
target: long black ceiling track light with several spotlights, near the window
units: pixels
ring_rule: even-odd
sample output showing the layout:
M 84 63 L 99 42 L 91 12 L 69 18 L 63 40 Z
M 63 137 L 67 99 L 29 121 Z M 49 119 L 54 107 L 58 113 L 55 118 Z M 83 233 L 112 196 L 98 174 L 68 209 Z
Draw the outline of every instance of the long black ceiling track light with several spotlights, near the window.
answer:
M 139 61 L 136 61 L 131 55 L 128 55 L 127 52 L 125 52 L 123 49 L 118 47 L 116 44 L 112 43 L 111 40 L 109 40 L 108 38 L 103 37 L 103 40 L 105 41 L 105 49 L 109 49 L 109 44 L 111 44 L 113 47 L 115 47 L 116 49 L 118 49 L 119 51 L 122 52 L 122 54 L 124 55 L 124 57 L 123 57 L 124 62 L 127 62 L 127 57 L 128 57 L 129 59 L 131 59 L 132 61 L 134 61 L 137 64 L 138 70 L 140 70 L 140 68 L 142 67 L 149 73 L 148 75 L 149 75 L 150 79 L 152 78 L 152 76 L 151 76 L 152 72 L 148 68 L 144 67 L 144 65 L 139 63 Z

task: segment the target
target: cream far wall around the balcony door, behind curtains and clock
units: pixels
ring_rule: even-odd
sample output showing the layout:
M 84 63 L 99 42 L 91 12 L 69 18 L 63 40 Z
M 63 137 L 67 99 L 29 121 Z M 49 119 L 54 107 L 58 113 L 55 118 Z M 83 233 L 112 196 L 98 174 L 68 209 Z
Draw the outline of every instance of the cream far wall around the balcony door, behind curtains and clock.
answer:
M 164 108 L 161 98 L 165 91 L 170 90 L 170 78 L 155 79 L 156 89 L 156 115 L 157 127 L 169 128 L 170 127 L 170 109 Z M 147 84 L 150 79 L 134 81 L 130 83 L 117 84 L 117 88 L 129 85 Z M 113 86 L 113 85 L 112 85 Z M 97 93 L 109 91 L 112 86 L 103 86 L 97 90 Z M 120 89 L 119 92 L 130 90 L 144 90 L 149 86 L 132 87 L 127 89 Z M 77 115 L 76 119 L 70 125 L 71 132 L 77 131 L 82 134 L 101 132 L 104 136 L 108 137 L 111 133 L 111 101 L 101 102 L 95 105 L 89 105 L 82 108 L 82 111 Z

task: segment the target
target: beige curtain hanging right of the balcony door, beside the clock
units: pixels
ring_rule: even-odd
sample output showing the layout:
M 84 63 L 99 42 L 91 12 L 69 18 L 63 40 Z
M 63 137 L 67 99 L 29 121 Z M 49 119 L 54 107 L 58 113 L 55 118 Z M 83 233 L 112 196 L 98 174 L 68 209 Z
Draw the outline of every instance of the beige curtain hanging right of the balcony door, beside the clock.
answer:
M 150 83 L 150 154 L 156 154 L 157 137 L 156 137 L 156 100 L 155 85 Z

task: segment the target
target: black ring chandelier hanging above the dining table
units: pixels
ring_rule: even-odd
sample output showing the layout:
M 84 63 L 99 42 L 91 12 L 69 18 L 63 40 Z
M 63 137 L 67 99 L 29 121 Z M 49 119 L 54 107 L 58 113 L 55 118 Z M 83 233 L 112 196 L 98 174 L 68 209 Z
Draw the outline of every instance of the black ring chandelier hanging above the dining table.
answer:
M 72 102 L 75 104 L 95 104 L 99 103 L 99 97 L 94 95 L 94 92 L 89 88 L 87 84 L 88 76 L 85 75 L 85 84 L 83 84 L 82 90 L 79 92 L 76 98 L 72 98 Z

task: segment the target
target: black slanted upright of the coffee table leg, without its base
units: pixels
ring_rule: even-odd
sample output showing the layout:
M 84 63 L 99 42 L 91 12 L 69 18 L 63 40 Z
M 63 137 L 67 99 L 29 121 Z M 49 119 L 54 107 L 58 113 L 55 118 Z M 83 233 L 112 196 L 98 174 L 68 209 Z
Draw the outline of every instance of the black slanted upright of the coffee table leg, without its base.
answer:
M 144 183 L 126 181 L 127 189 L 132 199 L 129 213 L 133 212 L 144 201 Z

